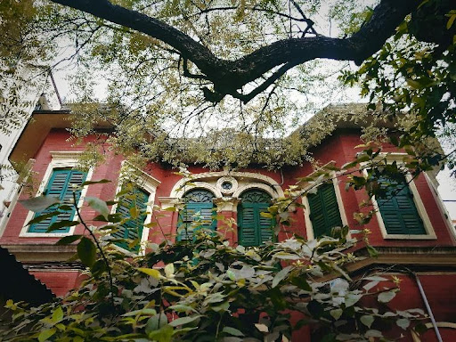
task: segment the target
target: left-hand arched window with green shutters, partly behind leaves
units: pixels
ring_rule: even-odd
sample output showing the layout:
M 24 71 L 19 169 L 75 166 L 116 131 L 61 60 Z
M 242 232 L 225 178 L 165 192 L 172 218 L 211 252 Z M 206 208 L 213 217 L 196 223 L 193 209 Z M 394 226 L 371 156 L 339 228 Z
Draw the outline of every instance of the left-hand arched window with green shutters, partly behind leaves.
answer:
M 193 232 L 201 228 L 216 230 L 216 213 L 212 201 L 215 197 L 206 189 L 193 189 L 183 195 L 184 206 L 179 212 L 177 240 L 191 240 Z

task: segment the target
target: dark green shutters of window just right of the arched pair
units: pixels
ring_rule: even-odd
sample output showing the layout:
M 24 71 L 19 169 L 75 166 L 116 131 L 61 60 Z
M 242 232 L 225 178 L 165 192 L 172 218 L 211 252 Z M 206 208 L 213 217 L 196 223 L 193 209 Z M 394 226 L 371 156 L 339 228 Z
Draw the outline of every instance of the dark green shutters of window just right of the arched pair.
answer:
M 338 199 L 332 183 L 323 184 L 317 193 L 307 196 L 310 220 L 314 228 L 314 237 L 329 235 L 334 227 L 342 226 L 338 210 Z

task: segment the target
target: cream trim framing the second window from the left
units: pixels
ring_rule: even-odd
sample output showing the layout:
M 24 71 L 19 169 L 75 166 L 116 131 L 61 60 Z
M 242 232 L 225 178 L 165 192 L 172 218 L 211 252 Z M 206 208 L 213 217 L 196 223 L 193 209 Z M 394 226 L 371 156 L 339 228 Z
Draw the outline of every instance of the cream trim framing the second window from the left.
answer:
M 157 187 L 161 183 L 158 179 L 152 177 L 151 175 L 146 174 L 142 170 L 140 170 L 137 167 L 132 166 L 130 163 L 128 163 L 126 160 L 122 161 L 122 167 L 121 167 L 121 175 L 118 178 L 118 186 L 116 188 L 116 193 L 118 193 L 122 189 L 122 185 L 125 182 L 125 177 L 122 176 L 122 173 L 126 173 L 128 170 L 133 171 L 135 175 L 137 176 L 136 183 L 135 185 L 141 188 L 143 191 L 146 191 L 149 193 L 149 198 L 147 199 L 147 207 L 146 207 L 146 212 L 147 216 L 144 220 L 144 226 L 142 226 L 142 235 L 140 239 L 140 248 L 138 253 L 134 253 L 130 250 L 127 250 L 125 248 L 121 248 L 120 246 L 116 244 L 112 244 L 114 248 L 117 248 L 118 250 L 121 250 L 124 253 L 130 254 L 132 256 L 137 256 L 139 255 L 145 255 L 145 241 L 149 239 L 149 232 L 150 228 L 146 227 L 146 224 L 150 224 L 152 222 L 152 210 L 155 202 L 155 195 L 157 193 Z M 116 210 L 118 208 L 118 204 L 116 203 L 115 205 L 112 206 L 110 213 L 115 214 Z

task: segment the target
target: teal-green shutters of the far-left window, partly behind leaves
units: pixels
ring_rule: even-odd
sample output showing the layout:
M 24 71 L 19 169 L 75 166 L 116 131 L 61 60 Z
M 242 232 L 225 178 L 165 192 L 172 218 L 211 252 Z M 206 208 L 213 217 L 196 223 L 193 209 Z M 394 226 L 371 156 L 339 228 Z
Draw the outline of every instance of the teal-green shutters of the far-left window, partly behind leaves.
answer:
M 58 199 L 71 202 L 73 200 L 73 186 L 72 184 L 81 185 L 85 181 L 87 174 L 85 172 L 71 170 L 71 169 L 56 169 L 53 170 L 51 179 L 46 185 L 45 195 L 57 197 Z M 81 191 L 76 192 L 77 200 L 81 196 Z M 40 213 L 37 213 L 34 217 L 44 215 L 48 212 L 55 210 L 55 208 L 48 208 Z M 37 224 L 32 224 L 28 228 L 28 232 L 46 232 L 49 225 L 66 220 L 73 220 L 76 209 L 62 211 L 59 216 L 53 216 L 45 219 Z M 62 228 L 53 232 L 69 232 L 69 227 Z

